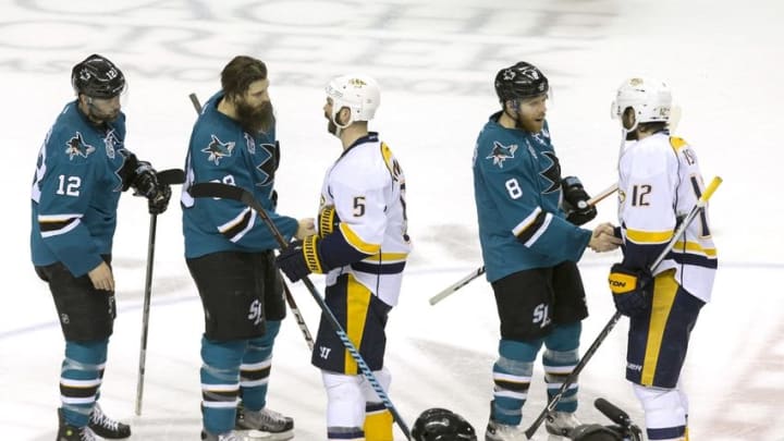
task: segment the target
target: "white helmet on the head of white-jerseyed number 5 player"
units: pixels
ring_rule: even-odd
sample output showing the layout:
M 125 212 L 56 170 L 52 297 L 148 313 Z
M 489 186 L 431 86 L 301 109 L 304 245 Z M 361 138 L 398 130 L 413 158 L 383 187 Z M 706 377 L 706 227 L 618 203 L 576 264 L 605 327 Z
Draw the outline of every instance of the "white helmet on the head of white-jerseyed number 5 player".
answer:
M 327 96 L 332 98 L 332 122 L 346 127 L 356 121 L 370 121 L 381 103 L 381 90 L 376 79 L 362 74 L 342 75 L 327 85 Z M 335 117 L 342 108 L 351 110 L 345 124 L 338 124 Z

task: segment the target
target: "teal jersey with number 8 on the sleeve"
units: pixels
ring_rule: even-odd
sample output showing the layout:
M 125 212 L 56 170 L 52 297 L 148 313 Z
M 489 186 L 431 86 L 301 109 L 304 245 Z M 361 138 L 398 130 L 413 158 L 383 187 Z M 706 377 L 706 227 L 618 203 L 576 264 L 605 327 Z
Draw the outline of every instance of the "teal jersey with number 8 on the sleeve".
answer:
M 579 260 L 591 232 L 561 210 L 561 167 L 547 122 L 540 133 L 490 117 L 474 149 L 474 196 L 487 279 Z

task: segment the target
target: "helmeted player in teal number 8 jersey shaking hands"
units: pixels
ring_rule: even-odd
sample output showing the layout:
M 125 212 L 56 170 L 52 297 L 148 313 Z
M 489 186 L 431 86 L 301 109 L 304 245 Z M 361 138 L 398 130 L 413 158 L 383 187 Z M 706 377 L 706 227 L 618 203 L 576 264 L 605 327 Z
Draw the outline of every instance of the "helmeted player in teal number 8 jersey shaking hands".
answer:
M 501 321 L 493 365 L 493 401 L 486 440 L 523 440 L 522 408 L 542 345 L 548 394 L 558 392 L 579 359 L 580 321 L 588 316 L 577 260 L 587 247 L 615 249 L 610 224 L 561 167 L 546 121 L 547 77 L 518 62 L 495 76 L 502 110 L 490 117 L 474 151 L 474 191 L 487 279 Z M 547 428 L 564 434 L 579 421 L 577 384 L 559 402 Z

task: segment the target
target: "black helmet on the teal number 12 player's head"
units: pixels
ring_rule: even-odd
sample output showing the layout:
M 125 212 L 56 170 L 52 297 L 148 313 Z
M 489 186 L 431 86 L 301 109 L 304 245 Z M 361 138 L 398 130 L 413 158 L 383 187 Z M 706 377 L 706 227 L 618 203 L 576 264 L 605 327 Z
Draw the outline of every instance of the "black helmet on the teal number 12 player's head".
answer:
M 114 98 L 125 89 L 125 76 L 106 57 L 94 53 L 74 65 L 71 85 L 76 95 L 94 98 Z

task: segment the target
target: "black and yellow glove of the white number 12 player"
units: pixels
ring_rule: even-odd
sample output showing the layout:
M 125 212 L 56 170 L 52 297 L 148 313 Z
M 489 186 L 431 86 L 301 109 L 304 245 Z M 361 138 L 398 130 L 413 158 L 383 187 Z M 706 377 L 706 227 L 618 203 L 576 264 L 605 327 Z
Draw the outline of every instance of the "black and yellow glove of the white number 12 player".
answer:
M 610 269 L 609 282 L 618 313 L 634 317 L 650 307 L 653 279 L 647 271 L 632 270 L 615 264 Z

